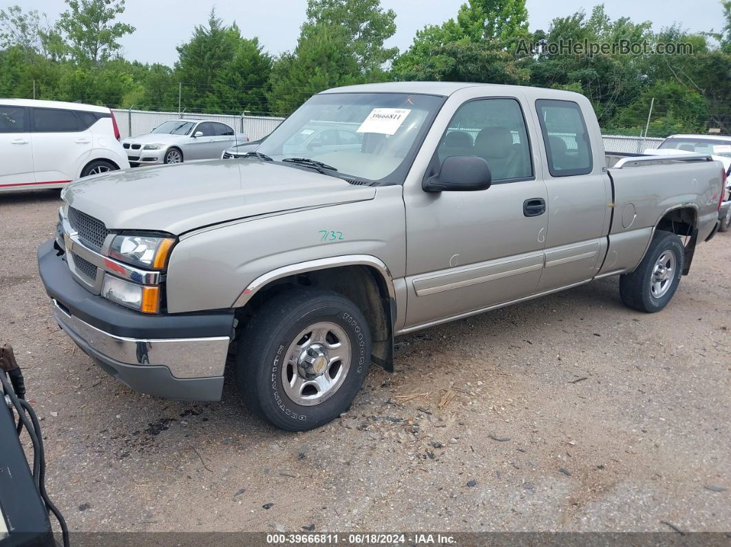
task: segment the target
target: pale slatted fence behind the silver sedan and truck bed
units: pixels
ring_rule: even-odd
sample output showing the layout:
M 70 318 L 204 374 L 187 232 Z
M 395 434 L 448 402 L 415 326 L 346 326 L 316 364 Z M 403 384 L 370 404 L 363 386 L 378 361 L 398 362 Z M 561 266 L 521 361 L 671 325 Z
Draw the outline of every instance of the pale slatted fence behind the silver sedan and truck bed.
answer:
M 227 123 L 251 140 L 258 140 L 270 134 L 284 121 L 278 116 L 240 116 L 226 114 L 189 114 L 183 112 L 152 112 L 150 110 L 113 109 L 122 138 L 145 134 L 167 120 L 195 118 Z M 477 131 L 477 130 L 475 130 Z M 630 137 L 626 135 L 604 135 L 604 148 L 607 152 L 641 154 L 645 148 L 657 148 L 664 140 L 656 137 Z

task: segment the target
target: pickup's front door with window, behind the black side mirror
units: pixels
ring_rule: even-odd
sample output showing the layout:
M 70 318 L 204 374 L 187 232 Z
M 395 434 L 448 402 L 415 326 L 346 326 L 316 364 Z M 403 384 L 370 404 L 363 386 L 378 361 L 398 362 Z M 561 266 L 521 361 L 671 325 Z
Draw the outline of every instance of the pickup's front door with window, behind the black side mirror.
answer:
M 406 327 L 534 294 L 543 268 L 545 184 L 535 176 L 525 99 L 472 99 L 456 110 L 436 150 L 484 158 L 487 190 L 404 189 Z

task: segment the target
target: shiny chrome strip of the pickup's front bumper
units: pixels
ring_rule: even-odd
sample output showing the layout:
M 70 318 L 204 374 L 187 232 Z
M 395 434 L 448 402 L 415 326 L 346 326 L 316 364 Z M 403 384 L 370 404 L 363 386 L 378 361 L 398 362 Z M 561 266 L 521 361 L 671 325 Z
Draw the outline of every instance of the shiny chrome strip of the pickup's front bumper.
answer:
M 140 340 L 109 334 L 69 315 L 53 300 L 53 318 L 73 340 L 83 340 L 100 356 L 127 365 L 163 366 L 175 378 L 224 374 L 230 337 Z

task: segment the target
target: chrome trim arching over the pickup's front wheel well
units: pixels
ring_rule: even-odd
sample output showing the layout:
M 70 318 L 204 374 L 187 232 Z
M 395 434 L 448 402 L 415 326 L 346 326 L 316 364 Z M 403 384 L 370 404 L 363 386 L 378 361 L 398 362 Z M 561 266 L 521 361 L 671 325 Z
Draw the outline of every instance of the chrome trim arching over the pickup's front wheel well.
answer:
M 281 268 L 273 269 L 271 272 L 260 275 L 258 278 L 249 283 L 231 307 L 243 307 L 247 302 L 257 294 L 260 288 L 267 286 L 274 280 L 286 278 L 289 275 L 297 275 L 300 273 L 312 272 L 317 269 L 336 268 L 340 266 L 370 266 L 374 267 L 381 274 L 385 285 L 388 289 L 388 298 L 391 306 L 396 305 L 396 291 L 393 286 L 393 278 L 386 264 L 381 259 L 377 259 L 371 255 L 344 255 L 332 256 L 327 259 L 308 260 L 299 262 L 298 264 L 290 264 Z M 395 311 L 395 310 L 394 310 Z M 395 318 L 395 313 L 393 314 Z

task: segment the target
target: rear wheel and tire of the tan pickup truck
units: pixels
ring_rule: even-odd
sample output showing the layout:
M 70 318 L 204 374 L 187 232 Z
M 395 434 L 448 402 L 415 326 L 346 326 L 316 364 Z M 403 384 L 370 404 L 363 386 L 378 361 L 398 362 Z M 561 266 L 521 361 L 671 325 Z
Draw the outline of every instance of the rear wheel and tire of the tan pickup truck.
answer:
M 681 238 L 670 232 L 656 232 L 637 269 L 619 278 L 622 302 L 632 310 L 659 312 L 678 289 L 684 264 Z

